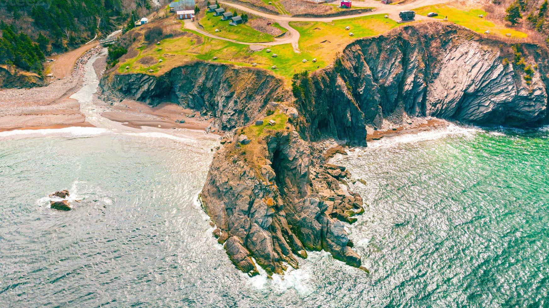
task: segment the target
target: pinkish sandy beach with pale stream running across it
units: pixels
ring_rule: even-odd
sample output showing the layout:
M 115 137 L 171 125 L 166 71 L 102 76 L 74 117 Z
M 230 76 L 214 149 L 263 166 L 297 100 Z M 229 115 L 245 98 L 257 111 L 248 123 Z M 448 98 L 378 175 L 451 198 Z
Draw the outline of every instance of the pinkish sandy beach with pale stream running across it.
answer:
M 96 84 L 104 74 L 107 54 L 104 48 L 97 50 L 74 77 L 56 80 L 41 88 L 0 91 L 0 98 L 7 98 L 9 105 L 7 110 L 0 111 L 0 132 L 4 137 L 41 136 L 43 130 L 48 131 L 48 135 L 65 136 L 66 128 L 89 127 L 113 133 L 145 136 L 160 136 L 160 133 L 206 143 L 219 141 L 222 134 L 215 130 L 206 132 L 213 119 L 197 111 L 169 103 L 151 107 L 130 99 L 110 102 L 99 96 Z M 184 123 L 180 123 L 181 120 L 185 120 Z M 37 133 L 33 135 L 30 131 Z

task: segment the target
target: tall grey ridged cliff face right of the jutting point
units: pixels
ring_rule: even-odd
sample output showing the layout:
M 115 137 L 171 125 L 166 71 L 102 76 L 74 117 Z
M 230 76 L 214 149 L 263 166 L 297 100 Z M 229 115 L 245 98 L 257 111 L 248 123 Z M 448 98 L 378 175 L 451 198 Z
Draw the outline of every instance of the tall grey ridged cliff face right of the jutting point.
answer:
M 313 139 L 324 133 L 358 140 L 363 124 L 380 126 L 384 117 L 404 113 L 479 125 L 536 125 L 547 111 L 547 52 L 532 45 L 517 52 L 525 64 L 517 63 L 509 44 L 460 27 L 404 26 L 358 40 L 333 67 L 301 76 L 298 85 L 309 83 L 312 93 L 298 95 L 296 104 Z M 533 73 L 527 74 L 528 65 Z M 336 116 L 346 125 L 330 119 Z

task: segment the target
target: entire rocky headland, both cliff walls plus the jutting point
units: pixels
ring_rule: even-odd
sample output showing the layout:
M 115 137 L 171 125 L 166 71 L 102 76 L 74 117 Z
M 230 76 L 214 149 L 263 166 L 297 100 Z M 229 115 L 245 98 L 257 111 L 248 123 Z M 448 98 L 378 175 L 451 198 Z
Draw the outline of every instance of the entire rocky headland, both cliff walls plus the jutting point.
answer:
M 490 40 L 455 25 L 404 26 L 351 43 L 327 68 L 294 76 L 191 63 L 163 76 L 105 76 L 103 93 L 213 114 L 225 131 L 200 195 L 229 258 L 250 276 L 298 267 L 326 250 L 355 267 L 345 225 L 362 212 L 350 175 L 327 159 L 334 138 L 366 145 L 368 127 L 437 117 L 476 125 L 547 121 L 547 50 Z M 425 121 L 427 122 L 427 121 Z

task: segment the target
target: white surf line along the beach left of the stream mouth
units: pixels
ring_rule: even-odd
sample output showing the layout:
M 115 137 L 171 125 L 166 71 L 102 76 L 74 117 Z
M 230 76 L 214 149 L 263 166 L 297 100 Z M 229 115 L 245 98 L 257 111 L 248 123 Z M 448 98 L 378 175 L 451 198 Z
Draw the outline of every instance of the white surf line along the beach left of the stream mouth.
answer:
M 43 136 L 60 137 L 89 137 L 109 133 L 109 130 L 98 127 L 64 127 L 64 128 L 46 128 L 43 130 L 13 130 L 0 132 L 0 139 L 9 138 L 30 138 Z

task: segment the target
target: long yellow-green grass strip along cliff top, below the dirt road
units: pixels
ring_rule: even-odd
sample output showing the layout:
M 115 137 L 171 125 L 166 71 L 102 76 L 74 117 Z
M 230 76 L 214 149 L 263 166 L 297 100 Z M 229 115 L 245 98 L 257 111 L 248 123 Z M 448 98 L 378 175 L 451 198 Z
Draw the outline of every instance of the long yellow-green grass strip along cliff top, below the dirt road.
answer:
M 347 25 L 351 26 L 350 31 L 355 33 L 355 36 L 350 37 L 349 31 L 345 31 Z M 121 74 L 138 72 L 161 75 L 176 66 L 196 59 L 239 66 L 251 66 L 251 64 L 257 63 L 256 68 L 266 69 L 283 77 L 286 85 L 289 86 L 294 74 L 304 70 L 315 71 L 318 68 L 324 68 L 332 63 L 337 52 L 343 51 L 343 48 L 350 42 L 357 38 L 383 33 L 393 29 L 397 24 L 393 20 L 383 18 L 383 15 L 369 15 L 337 20 L 332 23 L 296 22 L 292 23 L 292 26 L 300 32 L 301 53 L 295 53 L 290 44 L 271 46 L 262 51 L 253 52 L 248 45 L 216 40 L 192 30 L 181 29 L 184 32 L 193 33 L 194 41 L 191 41 L 191 36 L 180 36 L 166 38 L 159 45 L 144 46 L 139 48 L 136 57 L 123 60 L 118 71 Z M 202 42 L 197 43 L 199 40 Z M 321 43 L 324 40 L 330 42 Z M 158 48 L 162 48 L 162 50 L 159 51 Z M 266 49 L 271 49 L 271 52 L 267 53 Z M 278 54 L 278 57 L 272 58 L 272 54 Z M 148 56 L 155 59 L 154 64 L 147 66 L 139 63 L 140 59 Z M 217 60 L 213 60 L 213 57 L 217 57 Z M 313 58 L 317 59 L 316 63 L 311 61 Z M 163 62 L 158 63 L 158 59 L 162 59 Z M 303 59 L 307 61 L 303 63 Z M 277 69 L 272 70 L 271 66 L 273 65 L 276 65 Z M 129 66 L 130 69 L 126 69 L 126 66 Z M 153 70 L 153 72 L 148 72 L 148 70 Z

